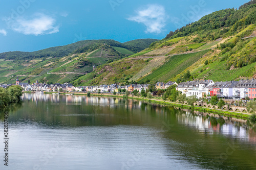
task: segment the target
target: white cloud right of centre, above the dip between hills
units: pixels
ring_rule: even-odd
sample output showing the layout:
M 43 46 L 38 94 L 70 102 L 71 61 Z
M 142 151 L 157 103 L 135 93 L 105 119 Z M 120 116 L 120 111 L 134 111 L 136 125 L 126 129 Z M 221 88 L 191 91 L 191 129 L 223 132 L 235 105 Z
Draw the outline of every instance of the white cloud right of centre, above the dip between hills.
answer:
M 161 5 L 148 5 L 146 8 L 136 11 L 137 15 L 129 17 L 128 20 L 143 23 L 146 26 L 146 33 L 161 33 L 167 16 Z

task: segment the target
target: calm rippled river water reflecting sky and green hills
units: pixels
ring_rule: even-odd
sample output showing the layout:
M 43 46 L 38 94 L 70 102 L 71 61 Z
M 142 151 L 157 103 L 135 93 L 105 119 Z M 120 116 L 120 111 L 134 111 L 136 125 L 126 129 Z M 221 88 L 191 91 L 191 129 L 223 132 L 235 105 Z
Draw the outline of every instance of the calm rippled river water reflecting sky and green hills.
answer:
M 4 140 L 4 114 L 0 117 Z M 142 101 L 24 94 L 0 169 L 255 169 L 246 121 Z

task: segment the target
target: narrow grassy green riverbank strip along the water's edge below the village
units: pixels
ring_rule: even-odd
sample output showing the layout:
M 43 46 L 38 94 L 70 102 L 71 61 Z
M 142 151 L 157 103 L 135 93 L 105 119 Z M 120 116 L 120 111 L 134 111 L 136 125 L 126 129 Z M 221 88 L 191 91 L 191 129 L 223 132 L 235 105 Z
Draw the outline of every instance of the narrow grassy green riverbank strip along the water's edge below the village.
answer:
M 28 91 L 28 93 L 31 93 L 31 91 Z M 44 92 L 45 94 L 52 94 L 54 92 Z M 81 92 L 59 92 L 59 94 L 75 94 L 75 95 L 87 95 L 87 92 L 81 93 Z M 100 97 L 110 97 L 110 98 L 123 98 L 124 94 L 121 95 L 114 95 L 114 94 L 109 94 L 109 93 L 91 93 L 91 96 L 100 96 Z M 169 105 L 169 106 L 174 106 L 174 107 L 179 107 L 181 109 L 190 109 L 190 110 L 198 110 L 202 112 L 209 112 L 209 113 L 214 113 L 214 114 L 220 114 L 224 116 L 234 116 L 236 118 L 241 118 L 241 119 L 248 119 L 248 117 L 251 115 L 250 113 L 243 113 L 243 112 L 234 112 L 234 111 L 229 111 L 229 110 L 221 110 L 221 109 L 215 109 L 215 108 L 207 108 L 207 107 L 201 107 L 201 106 L 191 106 L 187 104 L 180 104 L 176 102 L 170 102 L 170 101 L 163 101 L 163 100 L 158 100 L 158 99 L 145 99 L 145 98 L 138 98 L 134 96 L 128 96 L 128 99 L 133 99 L 133 100 L 139 100 L 139 101 L 146 101 L 150 103 L 155 103 L 155 104 L 162 104 L 162 105 Z

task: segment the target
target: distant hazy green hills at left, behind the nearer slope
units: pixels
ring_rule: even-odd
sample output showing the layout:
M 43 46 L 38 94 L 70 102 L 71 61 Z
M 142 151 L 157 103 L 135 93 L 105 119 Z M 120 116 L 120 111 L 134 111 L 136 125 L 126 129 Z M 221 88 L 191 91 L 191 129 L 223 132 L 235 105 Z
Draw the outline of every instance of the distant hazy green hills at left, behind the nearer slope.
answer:
M 157 39 L 138 39 L 125 43 L 115 40 L 84 40 L 36 52 L 0 54 L 0 82 L 20 81 L 66 83 L 93 71 L 93 65 L 133 55 Z

